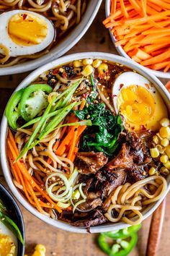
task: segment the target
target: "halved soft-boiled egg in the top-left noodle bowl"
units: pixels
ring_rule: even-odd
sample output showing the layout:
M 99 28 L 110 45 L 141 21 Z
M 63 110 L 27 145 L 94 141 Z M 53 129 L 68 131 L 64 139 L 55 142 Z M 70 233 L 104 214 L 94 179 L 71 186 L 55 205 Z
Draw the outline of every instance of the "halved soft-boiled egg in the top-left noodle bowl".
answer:
M 4 12 L 0 24 L 0 53 L 6 55 L 4 51 L 8 51 L 12 57 L 42 51 L 55 35 L 52 22 L 35 12 Z

